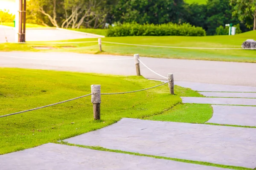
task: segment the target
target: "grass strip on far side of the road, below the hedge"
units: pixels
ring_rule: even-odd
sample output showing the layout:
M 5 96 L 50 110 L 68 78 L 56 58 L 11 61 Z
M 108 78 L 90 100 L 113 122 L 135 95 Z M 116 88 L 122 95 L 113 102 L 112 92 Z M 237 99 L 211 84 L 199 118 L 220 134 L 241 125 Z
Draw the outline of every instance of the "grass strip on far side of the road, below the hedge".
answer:
M 204 47 L 204 48 L 241 48 L 242 42 L 247 39 L 256 40 L 256 31 L 249 31 L 235 36 L 206 36 L 206 37 L 106 37 L 102 41 L 121 42 L 129 44 L 158 45 L 158 46 L 177 46 L 177 47 Z M 95 41 L 97 39 L 68 40 L 75 41 Z M 63 42 L 63 41 L 62 41 Z M 76 48 L 61 48 L 67 45 Z M 0 51 L 40 51 L 32 48 L 33 46 L 51 46 L 52 50 L 44 51 L 68 51 L 79 53 L 98 54 L 99 46 L 97 42 L 82 44 L 64 45 L 24 45 L 24 44 L 0 44 Z M 158 58 L 177 58 L 177 59 L 202 59 L 215 61 L 233 62 L 256 62 L 256 50 L 205 50 L 205 49 L 177 49 L 160 47 L 142 47 L 108 44 L 102 42 L 102 54 L 133 55 L 140 54 L 145 57 Z M 41 50 L 42 51 L 42 50 Z

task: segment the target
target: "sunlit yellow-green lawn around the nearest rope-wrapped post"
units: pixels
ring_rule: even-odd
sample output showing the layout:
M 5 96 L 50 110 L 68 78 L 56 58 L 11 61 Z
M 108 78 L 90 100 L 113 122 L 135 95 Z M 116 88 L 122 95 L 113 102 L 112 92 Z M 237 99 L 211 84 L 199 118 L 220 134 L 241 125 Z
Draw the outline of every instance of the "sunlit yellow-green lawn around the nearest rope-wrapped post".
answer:
M 133 91 L 160 84 L 158 81 L 135 76 L 121 77 L 17 68 L 0 68 L 0 72 L 0 115 L 90 94 L 92 84 L 102 85 L 102 93 Z M 175 92 L 183 96 L 200 96 L 195 91 L 178 86 L 175 87 Z M 47 142 L 57 142 L 60 139 L 111 125 L 122 117 L 144 118 L 157 115 L 180 102 L 180 97 L 171 96 L 168 85 L 163 85 L 138 93 L 102 96 L 101 121 L 93 120 L 90 96 L 3 117 L 0 118 L 0 154 Z

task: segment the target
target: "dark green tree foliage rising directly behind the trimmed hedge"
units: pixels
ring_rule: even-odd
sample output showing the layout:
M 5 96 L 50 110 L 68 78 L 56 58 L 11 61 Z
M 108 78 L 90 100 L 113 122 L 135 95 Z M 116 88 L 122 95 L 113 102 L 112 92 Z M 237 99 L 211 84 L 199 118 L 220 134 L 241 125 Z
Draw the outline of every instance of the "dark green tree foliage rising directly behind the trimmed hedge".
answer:
M 119 0 L 111 12 L 111 21 L 120 23 L 180 23 L 183 0 Z

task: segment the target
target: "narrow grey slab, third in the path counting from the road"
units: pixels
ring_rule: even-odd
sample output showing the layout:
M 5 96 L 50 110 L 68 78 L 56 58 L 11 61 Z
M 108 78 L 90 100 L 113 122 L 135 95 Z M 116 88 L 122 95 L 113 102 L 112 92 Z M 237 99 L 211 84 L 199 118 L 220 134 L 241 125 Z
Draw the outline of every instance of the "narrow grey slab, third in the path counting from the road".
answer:
M 256 99 L 214 98 L 214 97 L 181 97 L 183 103 L 200 103 L 214 105 L 248 105 L 255 106 Z

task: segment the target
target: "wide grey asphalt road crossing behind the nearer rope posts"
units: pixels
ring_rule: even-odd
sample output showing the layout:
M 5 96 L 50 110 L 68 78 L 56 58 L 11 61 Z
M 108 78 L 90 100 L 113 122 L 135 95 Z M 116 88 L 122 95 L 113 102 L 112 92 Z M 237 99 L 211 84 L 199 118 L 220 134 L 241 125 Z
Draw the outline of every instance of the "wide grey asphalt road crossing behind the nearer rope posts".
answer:
M 152 70 L 175 81 L 256 87 L 256 63 L 140 57 Z M 136 75 L 133 57 L 45 52 L 0 52 L 0 67 Z M 141 74 L 163 79 L 140 64 Z

